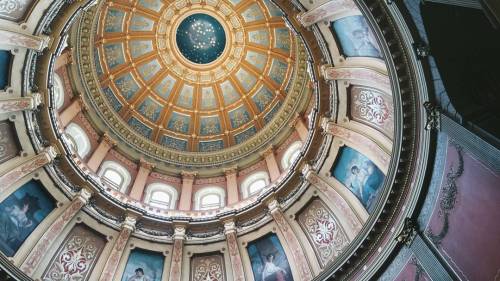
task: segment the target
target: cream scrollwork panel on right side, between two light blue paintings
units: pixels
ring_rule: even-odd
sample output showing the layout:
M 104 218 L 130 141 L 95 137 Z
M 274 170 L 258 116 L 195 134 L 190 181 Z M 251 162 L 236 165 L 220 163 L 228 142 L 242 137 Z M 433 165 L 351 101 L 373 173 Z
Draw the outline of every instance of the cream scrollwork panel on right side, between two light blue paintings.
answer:
M 350 115 L 355 121 L 365 123 L 386 136 L 394 135 L 394 108 L 390 97 L 373 88 L 350 88 Z

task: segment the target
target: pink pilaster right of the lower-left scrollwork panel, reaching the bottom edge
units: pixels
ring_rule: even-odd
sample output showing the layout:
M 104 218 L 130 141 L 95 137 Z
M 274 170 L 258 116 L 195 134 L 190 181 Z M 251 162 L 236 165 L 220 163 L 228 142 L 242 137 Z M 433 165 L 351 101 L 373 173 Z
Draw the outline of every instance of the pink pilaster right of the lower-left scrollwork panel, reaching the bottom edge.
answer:
M 125 221 L 122 223 L 120 234 L 118 234 L 118 237 L 113 244 L 113 248 L 111 249 L 111 253 L 106 260 L 106 264 L 104 265 L 99 281 L 113 280 L 118 264 L 120 263 L 120 259 L 123 256 L 125 246 L 127 245 L 130 235 L 132 235 L 132 232 L 135 230 L 136 221 L 136 217 L 134 216 L 127 216 L 125 218 Z

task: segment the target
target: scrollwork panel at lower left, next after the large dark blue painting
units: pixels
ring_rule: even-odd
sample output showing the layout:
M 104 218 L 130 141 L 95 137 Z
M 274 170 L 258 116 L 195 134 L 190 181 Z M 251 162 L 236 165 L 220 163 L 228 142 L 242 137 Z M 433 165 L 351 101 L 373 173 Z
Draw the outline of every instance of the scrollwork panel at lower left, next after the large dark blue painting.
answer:
M 85 225 L 75 226 L 52 258 L 43 281 L 88 280 L 106 239 Z

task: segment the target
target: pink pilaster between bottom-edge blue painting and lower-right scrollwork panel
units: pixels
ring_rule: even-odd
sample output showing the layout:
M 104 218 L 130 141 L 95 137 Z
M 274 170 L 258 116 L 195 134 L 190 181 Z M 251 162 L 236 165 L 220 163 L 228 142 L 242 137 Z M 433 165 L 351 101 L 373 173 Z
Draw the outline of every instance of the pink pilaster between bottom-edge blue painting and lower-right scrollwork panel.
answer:
M 302 246 L 300 245 L 297 236 L 293 232 L 292 227 L 285 219 L 278 201 L 272 200 L 268 204 L 268 207 L 269 211 L 271 212 L 271 216 L 278 226 L 279 231 L 285 238 L 283 242 L 288 245 L 288 248 L 292 252 L 291 258 L 295 267 L 297 268 L 297 272 L 299 274 L 298 279 L 303 281 L 312 280 L 313 274 L 311 268 L 309 267 L 309 263 L 307 262 L 307 257 L 304 254 Z

